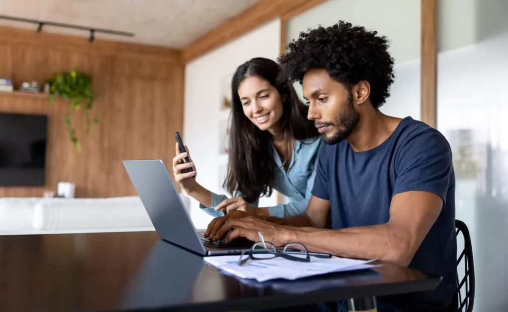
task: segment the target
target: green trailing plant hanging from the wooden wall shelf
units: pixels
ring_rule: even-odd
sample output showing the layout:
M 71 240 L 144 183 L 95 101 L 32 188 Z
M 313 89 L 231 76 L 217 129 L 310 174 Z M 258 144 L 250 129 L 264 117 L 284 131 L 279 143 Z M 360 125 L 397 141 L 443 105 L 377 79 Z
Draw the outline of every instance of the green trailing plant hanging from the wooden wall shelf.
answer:
M 72 127 L 72 114 L 74 111 L 84 107 L 86 118 L 86 134 L 90 133 L 94 124 L 99 122 L 98 114 L 90 118 L 90 110 L 93 105 L 95 95 L 92 93 L 92 80 L 84 73 L 78 73 L 75 69 L 70 73 L 53 74 L 53 78 L 47 81 L 50 91 L 48 101 L 53 104 L 54 97 L 60 97 L 62 100 L 70 100 L 69 109 L 65 114 L 67 132 L 69 138 L 77 150 L 81 150 L 81 145 L 76 132 Z

